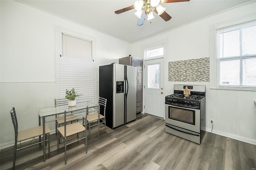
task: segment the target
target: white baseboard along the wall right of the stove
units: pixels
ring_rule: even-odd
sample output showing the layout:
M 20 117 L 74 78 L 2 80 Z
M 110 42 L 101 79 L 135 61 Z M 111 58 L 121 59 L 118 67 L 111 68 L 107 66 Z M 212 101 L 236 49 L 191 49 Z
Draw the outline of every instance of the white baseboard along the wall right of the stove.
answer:
M 232 139 L 235 139 L 235 140 L 240 140 L 242 142 L 246 142 L 246 143 L 256 145 L 256 140 L 253 140 L 253 139 L 250 139 L 250 138 L 245 138 L 245 137 L 242 137 L 242 136 L 237 136 L 235 134 L 229 134 L 229 133 L 221 132 L 221 131 L 218 131 L 218 130 L 214 130 L 212 128 L 206 128 L 206 132 L 211 132 L 211 131 L 212 131 L 212 133 L 218 134 L 220 136 L 225 136 L 227 138 L 232 138 Z

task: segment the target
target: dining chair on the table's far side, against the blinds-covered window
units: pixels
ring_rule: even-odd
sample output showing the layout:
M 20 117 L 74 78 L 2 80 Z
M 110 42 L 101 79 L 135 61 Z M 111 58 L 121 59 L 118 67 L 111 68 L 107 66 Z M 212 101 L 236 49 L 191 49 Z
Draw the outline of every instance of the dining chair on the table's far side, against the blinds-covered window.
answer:
M 56 106 L 63 106 L 63 105 L 68 105 L 68 99 L 54 99 L 54 107 Z M 69 118 L 66 120 L 66 122 L 78 122 L 77 117 L 75 117 L 74 115 L 72 115 L 72 113 L 70 113 L 71 115 L 69 116 Z M 55 121 L 55 134 L 57 135 L 57 127 L 60 127 L 61 124 L 64 123 L 64 115 L 56 115 L 56 121 Z

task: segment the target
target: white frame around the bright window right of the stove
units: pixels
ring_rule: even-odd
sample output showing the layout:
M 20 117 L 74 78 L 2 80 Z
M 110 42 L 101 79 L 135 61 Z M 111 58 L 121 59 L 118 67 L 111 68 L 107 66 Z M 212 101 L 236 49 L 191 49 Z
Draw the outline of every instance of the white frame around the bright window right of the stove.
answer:
M 236 26 L 239 24 L 244 24 L 247 22 L 256 21 L 255 15 L 249 15 L 246 17 L 236 18 L 234 20 L 226 21 L 224 23 L 219 23 L 210 26 L 209 28 L 209 38 L 210 38 L 210 89 L 225 89 L 225 90 L 242 90 L 242 91 L 256 91 L 255 87 L 245 87 L 245 86 L 223 86 L 219 84 L 219 59 L 217 57 L 217 30 L 222 28 L 228 28 L 231 26 Z

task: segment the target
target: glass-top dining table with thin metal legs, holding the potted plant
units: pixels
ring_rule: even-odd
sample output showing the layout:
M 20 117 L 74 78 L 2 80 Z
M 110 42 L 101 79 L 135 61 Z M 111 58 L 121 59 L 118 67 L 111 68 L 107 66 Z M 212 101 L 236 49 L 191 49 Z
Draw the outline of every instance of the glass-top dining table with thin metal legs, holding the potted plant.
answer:
M 81 110 L 85 110 L 90 108 L 97 108 L 99 109 L 99 103 L 96 103 L 94 101 L 81 101 L 81 102 L 77 102 L 76 106 L 73 107 L 69 107 L 68 105 L 61 105 L 61 106 L 56 106 L 54 107 L 54 105 L 52 106 L 46 106 L 46 107 L 37 107 L 36 110 L 38 112 L 38 117 L 39 117 L 39 126 L 41 125 L 41 119 L 42 119 L 42 126 L 43 126 L 43 141 L 46 140 L 45 138 L 45 118 L 49 117 L 49 116 L 54 116 L 54 115 L 59 115 L 59 114 L 63 114 L 66 112 L 74 112 L 74 111 L 81 111 Z M 55 121 L 54 120 L 50 120 L 50 121 Z M 50 122 L 47 121 L 47 122 Z M 41 140 L 41 139 L 40 139 Z M 46 142 L 43 142 L 44 145 L 44 162 L 46 161 Z M 48 146 L 49 147 L 49 146 Z M 50 154 L 49 154 L 50 155 Z

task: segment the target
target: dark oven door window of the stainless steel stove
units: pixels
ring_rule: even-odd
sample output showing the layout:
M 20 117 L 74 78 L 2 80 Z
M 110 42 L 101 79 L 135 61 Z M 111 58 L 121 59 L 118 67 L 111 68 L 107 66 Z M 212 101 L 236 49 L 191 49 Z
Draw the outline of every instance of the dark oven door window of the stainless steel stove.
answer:
M 195 125 L 195 111 L 169 106 L 169 119 Z

